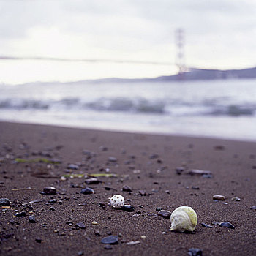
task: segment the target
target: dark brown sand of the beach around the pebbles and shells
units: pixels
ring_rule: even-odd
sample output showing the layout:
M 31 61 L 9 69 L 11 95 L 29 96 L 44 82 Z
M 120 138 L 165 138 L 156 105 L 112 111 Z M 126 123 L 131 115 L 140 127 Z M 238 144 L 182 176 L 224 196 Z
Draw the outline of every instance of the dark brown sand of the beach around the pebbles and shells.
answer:
M 61 164 L 17 163 L 18 157 L 60 159 Z M 79 165 L 73 173 L 109 169 L 120 176 L 99 178 L 103 183 L 98 185 L 84 184 L 85 178 L 60 181 L 70 163 Z M 185 170 L 178 175 L 176 167 L 182 166 Z M 213 176 L 187 174 L 192 169 L 210 170 Z M 121 191 L 124 185 L 132 192 Z M 57 195 L 40 194 L 46 186 L 56 187 Z M 86 186 L 103 187 L 83 195 L 80 187 Z M 108 206 L 108 198 L 117 193 L 135 211 Z M 225 195 L 227 204 L 215 202 L 213 195 Z M 1 255 L 188 255 L 190 248 L 201 249 L 203 255 L 255 255 L 256 211 L 250 209 L 255 195 L 256 143 L 0 123 L 0 197 L 11 201 L 10 208 L 1 208 Z M 236 196 L 241 200 L 233 201 Z M 54 198 L 56 203 L 48 203 Z M 32 200 L 42 202 L 22 206 Z M 193 233 L 171 232 L 170 219 L 157 216 L 156 208 L 173 211 L 183 205 L 197 212 Z M 15 217 L 16 210 L 26 216 Z M 29 222 L 32 214 L 36 223 Z M 212 221 L 236 228 L 201 225 Z M 86 228 L 75 227 L 78 222 Z M 105 249 L 100 241 L 110 234 L 119 235 L 118 244 Z

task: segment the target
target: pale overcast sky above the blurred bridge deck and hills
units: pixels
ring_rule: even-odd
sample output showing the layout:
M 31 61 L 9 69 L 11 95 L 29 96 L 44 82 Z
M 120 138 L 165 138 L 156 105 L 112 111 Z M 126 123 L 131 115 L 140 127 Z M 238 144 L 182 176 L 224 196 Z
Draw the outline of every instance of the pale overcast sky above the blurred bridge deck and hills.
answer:
M 253 67 L 255 17 L 255 0 L 0 0 L 0 56 L 173 64 L 182 28 L 187 66 Z

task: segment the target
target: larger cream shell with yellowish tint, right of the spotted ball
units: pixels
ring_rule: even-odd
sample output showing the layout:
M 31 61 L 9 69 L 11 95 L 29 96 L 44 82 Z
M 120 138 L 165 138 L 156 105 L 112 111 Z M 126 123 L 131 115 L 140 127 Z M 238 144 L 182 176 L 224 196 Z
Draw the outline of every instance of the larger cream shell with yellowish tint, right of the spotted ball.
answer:
M 189 206 L 180 206 L 170 215 L 171 231 L 194 231 L 197 225 L 197 214 Z

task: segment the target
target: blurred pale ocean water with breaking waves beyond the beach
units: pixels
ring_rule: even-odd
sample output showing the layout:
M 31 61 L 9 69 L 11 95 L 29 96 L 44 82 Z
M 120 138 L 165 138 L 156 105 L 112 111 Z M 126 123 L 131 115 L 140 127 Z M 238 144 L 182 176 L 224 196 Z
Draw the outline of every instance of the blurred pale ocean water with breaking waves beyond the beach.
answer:
M 256 141 L 256 80 L 0 84 L 0 120 Z

